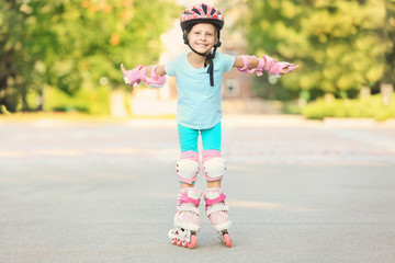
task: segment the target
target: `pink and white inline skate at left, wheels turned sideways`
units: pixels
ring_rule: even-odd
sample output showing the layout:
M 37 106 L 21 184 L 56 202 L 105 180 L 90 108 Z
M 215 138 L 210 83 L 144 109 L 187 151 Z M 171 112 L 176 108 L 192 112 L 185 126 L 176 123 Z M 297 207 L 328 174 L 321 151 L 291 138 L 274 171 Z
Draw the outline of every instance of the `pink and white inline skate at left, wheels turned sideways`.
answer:
M 193 249 L 196 245 L 196 232 L 201 229 L 199 204 L 203 193 L 196 188 L 182 188 L 174 215 L 174 228 L 168 233 L 171 243 Z

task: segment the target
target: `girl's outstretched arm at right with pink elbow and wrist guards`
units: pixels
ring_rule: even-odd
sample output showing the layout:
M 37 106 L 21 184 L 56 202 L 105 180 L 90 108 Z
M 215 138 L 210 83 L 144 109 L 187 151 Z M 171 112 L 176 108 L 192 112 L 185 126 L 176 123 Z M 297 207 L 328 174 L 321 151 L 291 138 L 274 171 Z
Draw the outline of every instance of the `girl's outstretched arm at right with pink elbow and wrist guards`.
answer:
M 261 76 L 262 70 L 267 71 L 270 75 L 291 73 L 293 70 L 298 68 L 298 65 L 279 62 L 269 56 L 257 58 L 255 56 L 242 55 L 236 57 L 234 67 L 236 67 L 240 72 L 256 72 L 257 76 Z

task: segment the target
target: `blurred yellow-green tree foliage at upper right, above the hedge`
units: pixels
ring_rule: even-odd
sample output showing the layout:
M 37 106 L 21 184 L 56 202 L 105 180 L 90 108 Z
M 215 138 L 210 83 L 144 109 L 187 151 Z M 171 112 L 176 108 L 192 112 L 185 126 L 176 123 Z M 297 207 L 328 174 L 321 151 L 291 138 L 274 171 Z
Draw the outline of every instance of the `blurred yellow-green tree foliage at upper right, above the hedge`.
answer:
M 242 26 L 251 53 L 301 65 L 295 76 L 280 79 L 281 85 L 340 94 L 383 77 L 385 50 L 394 54 L 394 39 L 384 37 L 383 26 L 386 21 L 395 26 L 395 12 L 385 2 L 249 0 Z

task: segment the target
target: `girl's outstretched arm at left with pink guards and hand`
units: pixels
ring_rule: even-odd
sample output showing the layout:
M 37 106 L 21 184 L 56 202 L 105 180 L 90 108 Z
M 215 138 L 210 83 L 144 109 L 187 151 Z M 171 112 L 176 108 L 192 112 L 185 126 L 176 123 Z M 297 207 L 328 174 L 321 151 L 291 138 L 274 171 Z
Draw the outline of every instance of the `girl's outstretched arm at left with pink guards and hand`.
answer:
M 166 83 L 165 65 L 148 66 L 137 65 L 137 68 L 126 70 L 125 66 L 121 64 L 121 69 L 124 75 L 125 83 L 133 88 L 133 84 L 139 84 L 142 81 L 154 88 L 161 88 Z

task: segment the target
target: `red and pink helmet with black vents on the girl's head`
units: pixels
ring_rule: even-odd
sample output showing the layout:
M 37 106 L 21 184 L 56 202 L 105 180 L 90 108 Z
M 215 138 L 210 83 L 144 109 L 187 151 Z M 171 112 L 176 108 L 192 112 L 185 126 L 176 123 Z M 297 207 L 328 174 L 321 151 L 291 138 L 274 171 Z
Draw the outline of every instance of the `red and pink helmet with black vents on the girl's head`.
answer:
M 180 19 L 182 31 L 190 25 L 198 23 L 210 23 L 222 30 L 224 26 L 224 16 L 219 9 L 201 3 L 192 8 L 185 9 Z

